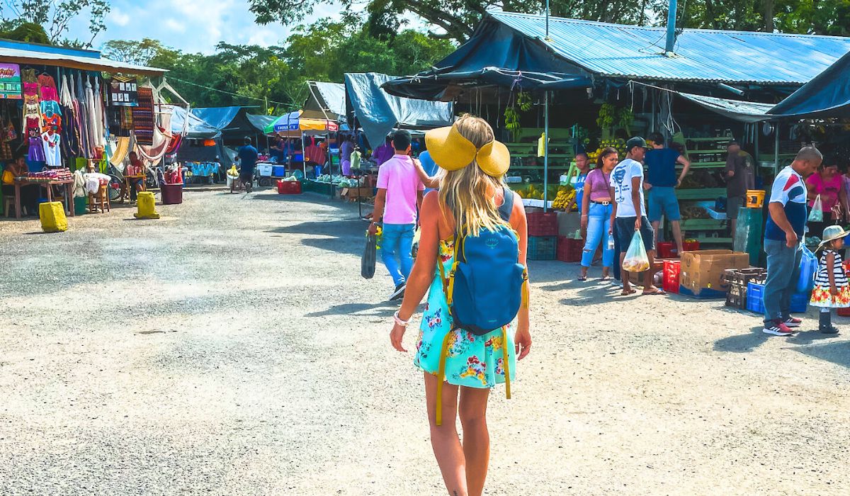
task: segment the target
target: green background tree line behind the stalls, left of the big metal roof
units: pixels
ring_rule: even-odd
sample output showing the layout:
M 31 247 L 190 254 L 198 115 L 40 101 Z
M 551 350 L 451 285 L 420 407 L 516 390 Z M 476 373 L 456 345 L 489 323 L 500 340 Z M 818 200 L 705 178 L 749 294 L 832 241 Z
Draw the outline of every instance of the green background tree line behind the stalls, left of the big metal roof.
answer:
M 445 39 L 411 29 L 381 31 L 347 14 L 297 26 L 283 46 L 218 43 L 214 54 L 187 54 L 145 38 L 112 40 L 103 53 L 167 69 L 168 80 L 192 105 L 263 106 L 268 101 L 280 113 L 303 104 L 308 80 L 342 83 L 345 72 L 412 74 L 454 49 Z

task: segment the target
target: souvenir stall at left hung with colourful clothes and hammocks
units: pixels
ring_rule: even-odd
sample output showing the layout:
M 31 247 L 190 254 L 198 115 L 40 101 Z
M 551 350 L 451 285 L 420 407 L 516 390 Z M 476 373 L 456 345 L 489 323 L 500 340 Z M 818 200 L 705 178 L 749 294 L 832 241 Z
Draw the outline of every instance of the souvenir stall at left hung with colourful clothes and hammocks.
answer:
M 130 151 L 150 163 L 173 140 L 156 148 L 152 88 L 103 71 L 162 71 L 101 59 L 97 52 L 14 46 L 0 47 L 3 214 L 34 215 L 39 202 L 50 200 L 64 202 L 70 215 L 82 214 L 96 210 L 93 197 L 102 212 L 115 199 L 111 188 L 120 194 L 144 189 L 142 162 L 125 165 Z

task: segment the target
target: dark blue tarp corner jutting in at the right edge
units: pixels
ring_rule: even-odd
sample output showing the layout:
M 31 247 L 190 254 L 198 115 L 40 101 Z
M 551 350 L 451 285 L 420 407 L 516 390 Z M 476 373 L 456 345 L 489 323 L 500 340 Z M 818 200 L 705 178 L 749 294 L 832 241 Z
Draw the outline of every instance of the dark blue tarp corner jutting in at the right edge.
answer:
M 776 117 L 850 118 L 850 54 L 779 102 L 770 113 Z

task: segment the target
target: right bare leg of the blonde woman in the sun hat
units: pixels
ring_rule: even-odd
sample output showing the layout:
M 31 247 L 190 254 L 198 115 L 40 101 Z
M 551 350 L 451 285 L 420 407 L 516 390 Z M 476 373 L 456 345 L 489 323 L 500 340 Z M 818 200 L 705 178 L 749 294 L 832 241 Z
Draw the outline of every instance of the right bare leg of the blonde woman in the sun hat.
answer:
M 459 413 L 463 427 L 463 454 L 467 460 L 470 496 L 480 496 L 490 464 L 490 432 L 487 431 L 487 398 L 490 389 L 461 388 Z

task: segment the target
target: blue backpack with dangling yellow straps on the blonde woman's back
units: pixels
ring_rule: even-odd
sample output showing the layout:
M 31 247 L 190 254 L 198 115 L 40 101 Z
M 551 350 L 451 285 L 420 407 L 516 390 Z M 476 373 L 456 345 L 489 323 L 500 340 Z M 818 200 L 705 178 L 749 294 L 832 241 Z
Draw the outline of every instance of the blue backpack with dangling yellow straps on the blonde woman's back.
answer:
M 513 212 L 513 191 L 505 188 L 505 201 L 499 216 L 505 222 Z M 507 324 L 527 305 L 528 271 L 519 263 L 519 239 L 510 225 L 496 231 L 481 230 L 476 236 L 455 235 L 454 263 L 446 277 L 438 260 L 445 299 L 453 322 L 445 335 L 439 356 L 437 383 L 437 425 L 442 425 L 442 386 L 445 379 L 445 358 L 457 329 L 477 336 L 501 328 L 503 339 L 502 362 L 505 370 L 505 394 L 511 397 L 510 371 L 507 360 Z

